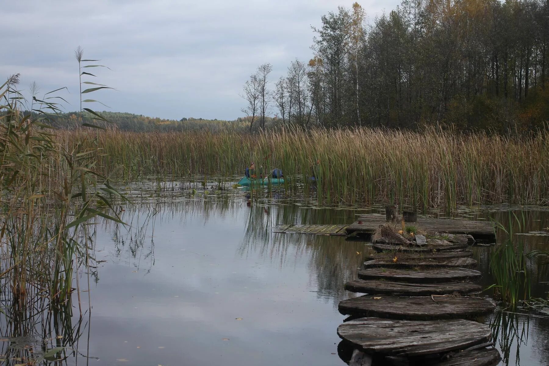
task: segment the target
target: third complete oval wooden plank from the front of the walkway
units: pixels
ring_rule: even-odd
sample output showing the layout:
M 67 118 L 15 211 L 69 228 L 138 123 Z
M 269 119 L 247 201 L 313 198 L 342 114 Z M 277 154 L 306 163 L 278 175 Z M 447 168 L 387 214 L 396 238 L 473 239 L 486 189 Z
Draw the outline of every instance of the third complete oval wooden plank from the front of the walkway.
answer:
M 370 295 L 429 296 L 479 294 L 482 286 L 470 282 L 410 283 L 357 279 L 345 284 L 345 290 Z

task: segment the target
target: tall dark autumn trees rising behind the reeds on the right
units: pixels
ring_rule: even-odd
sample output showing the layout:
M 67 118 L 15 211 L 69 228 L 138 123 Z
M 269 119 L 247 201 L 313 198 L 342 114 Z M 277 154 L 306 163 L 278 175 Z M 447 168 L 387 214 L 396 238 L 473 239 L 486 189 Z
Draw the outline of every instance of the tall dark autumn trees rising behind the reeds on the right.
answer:
M 308 63 L 276 82 L 264 64 L 245 83 L 251 122 L 272 111 L 307 127 L 546 128 L 547 0 L 405 0 L 371 24 L 354 3 L 313 31 Z

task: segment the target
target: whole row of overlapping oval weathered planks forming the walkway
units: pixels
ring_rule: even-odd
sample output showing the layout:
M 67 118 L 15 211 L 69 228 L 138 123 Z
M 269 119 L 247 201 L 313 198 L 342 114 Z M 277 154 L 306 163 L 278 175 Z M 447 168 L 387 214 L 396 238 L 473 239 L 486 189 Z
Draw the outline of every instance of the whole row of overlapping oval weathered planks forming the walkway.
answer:
M 377 216 L 376 228 L 384 222 Z M 379 357 L 399 364 L 409 364 L 407 358 L 412 357 L 413 364 L 432 366 L 489 366 L 500 361 L 489 342 L 490 327 L 475 321 L 494 312 L 495 303 L 468 296 L 482 290 L 472 281 L 480 277 L 471 269 L 477 261 L 466 247 L 449 249 L 466 243 L 465 237 L 450 240 L 429 243 L 420 236 L 401 246 L 387 239 L 375 248 L 380 253 L 367 258 L 371 260 L 358 279 L 345 284 L 346 290 L 366 294 L 338 306 L 352 319 L 338 327 L 343 342 L 354 347 L 349 365 L 370 365 Z M 433 250 L 432 245 L 442 248 Z

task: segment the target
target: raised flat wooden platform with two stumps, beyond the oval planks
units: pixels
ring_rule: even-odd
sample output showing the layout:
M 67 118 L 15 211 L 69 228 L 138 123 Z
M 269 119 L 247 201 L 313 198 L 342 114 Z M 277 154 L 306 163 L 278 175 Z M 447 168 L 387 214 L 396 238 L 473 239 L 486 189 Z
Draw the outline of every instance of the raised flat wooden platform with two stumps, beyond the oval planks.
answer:
M 369 213 L 358 216 L 357 221 L 350 224 L 346 230 L 349 233 L 373 234 L 379 225 L 384 223 L 385 215 Z M 418 217 L 417 222 L 410 224 L 429 232 L 470 234 L 475 239 L 495 239 L 494 224 L 486 221 Z

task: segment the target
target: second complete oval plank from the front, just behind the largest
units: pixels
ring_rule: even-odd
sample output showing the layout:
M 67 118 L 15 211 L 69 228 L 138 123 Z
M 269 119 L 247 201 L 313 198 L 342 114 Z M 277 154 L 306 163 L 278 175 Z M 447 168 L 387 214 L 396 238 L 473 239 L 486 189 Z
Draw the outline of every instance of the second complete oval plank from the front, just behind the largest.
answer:
M 374 297 L 376 297 L 374 299 Z M 344 315 L 408 320 L 453 319 L 490 314 L 494 303 L 480 297 L 364 295 L 339 302 Z

